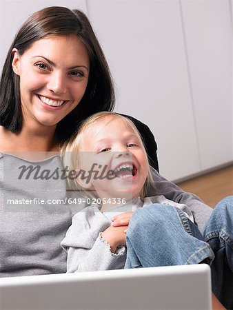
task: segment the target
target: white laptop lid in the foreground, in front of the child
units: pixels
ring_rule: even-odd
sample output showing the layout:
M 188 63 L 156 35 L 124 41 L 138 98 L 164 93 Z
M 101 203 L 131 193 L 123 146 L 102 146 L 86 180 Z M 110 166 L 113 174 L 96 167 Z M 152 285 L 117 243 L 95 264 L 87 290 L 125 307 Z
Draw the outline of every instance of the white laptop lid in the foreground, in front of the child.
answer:
M 210 310 L 205 264 L 0 278 L 1 310 Z

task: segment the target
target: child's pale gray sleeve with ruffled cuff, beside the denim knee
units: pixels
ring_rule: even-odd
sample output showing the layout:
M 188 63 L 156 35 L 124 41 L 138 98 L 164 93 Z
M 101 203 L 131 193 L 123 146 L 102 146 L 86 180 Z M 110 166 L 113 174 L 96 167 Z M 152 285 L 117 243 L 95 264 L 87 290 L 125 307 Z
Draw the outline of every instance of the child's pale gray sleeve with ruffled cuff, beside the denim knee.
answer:
M 96 224 L 94 229 L 85 223 L 85 214 L 79 212 L 72 218 L 72 225 L 68 229 L 61 247 L 67 252 L 67 272 L 98 271 L 122 269 L 125 265 L 125 247 L 119 247 L 113 254 L 110 245 L 101 237 L 101 231 L 109 227 L 108 220 Z

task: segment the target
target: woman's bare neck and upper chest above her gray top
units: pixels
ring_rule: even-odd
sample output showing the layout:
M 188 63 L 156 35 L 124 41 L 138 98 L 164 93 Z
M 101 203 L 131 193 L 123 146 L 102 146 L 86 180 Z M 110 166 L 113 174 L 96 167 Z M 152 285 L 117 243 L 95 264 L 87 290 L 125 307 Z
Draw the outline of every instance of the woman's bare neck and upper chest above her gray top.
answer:
M 32 130 L 23 126 L 19 132 L 10 132 L 0 126 L 0 152 L 59 152 L 55 129 Z

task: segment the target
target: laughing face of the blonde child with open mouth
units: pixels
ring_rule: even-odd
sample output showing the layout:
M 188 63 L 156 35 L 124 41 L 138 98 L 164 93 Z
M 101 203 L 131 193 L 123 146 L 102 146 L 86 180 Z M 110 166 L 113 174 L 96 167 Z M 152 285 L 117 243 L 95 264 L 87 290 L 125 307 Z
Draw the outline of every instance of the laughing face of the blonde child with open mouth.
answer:
M 148 176 L 148 159 L 141 141 L 130 125 L 119 118 L 105 116 L 85 134 L 81 147 L 81 169 L 86 173 L 93 164 L 100 176 L 110 170 L 110 177 L 92 178 L 90 183 L 100 198 L 134 198 L 140 195 Z M 101 168 L 99 168 L 101 165 Z

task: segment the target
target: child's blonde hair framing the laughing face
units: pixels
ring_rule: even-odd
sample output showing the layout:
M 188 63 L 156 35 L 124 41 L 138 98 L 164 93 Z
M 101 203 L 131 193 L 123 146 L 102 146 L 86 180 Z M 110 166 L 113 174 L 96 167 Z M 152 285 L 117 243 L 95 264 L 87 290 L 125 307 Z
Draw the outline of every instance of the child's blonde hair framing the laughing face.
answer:
M 143 148 L 143 151 L 145 152 L 146 158 L 147 158 L 147 169 L 148 169 L 148 176 L 145 180 L 145 184 L 143 185 L 143 188 L 141 189 L 140 196 L 141 198 L 144 198 L 147 194 L 146 188 L 147 187 L 154 187 L 154 180 L 152 178 L 152 174 L 150 172 L 150 166 L 148 161 L 148 154 L 145 150 L 145 146 L 143 144 L 143 140 L 141 138 L 141 135 L 139 131 L 136 129 L 136 126 L 134 123 L 127 117 L 119 115 L 114 112 L 98 112 L 96 114 L 93 114 L 92 116 L 89 116 L 86 118 L 83 123 L 81 123 L 81 126 L 79 127 L 79 130 L 68 140 L 64 143 L 63 147 L 61 148 L 61 156 L 63 160 L 63 165 L 65 167 L 68 167 L 69 171 L 74 171 L 79 168 L 81 168 L 80 164 L 80 156 L 79 152 L 81 152 L 81 147 L 83 145 L 85 135 L 90 132 L 94 125 L 96 123 L 99 123 L 103 118 L 110 117 L 110 121 L 113 119 L 119 118 L 123 123 L 129 125 L 132 130 L 134 131 L 134 134 L 136 134 L 137 138 L 139 138 L 139 141 L 141 143 L 141 147 Z M 93 197 L 93 194 L 86 191 L 80 184 L 78 178 L 68 178 L 68 185 L 71 189 L 75 190 L 81 190 L 84 191 L 87 196 Z

